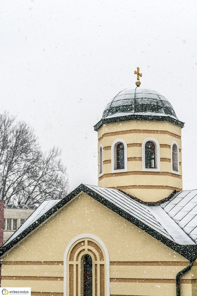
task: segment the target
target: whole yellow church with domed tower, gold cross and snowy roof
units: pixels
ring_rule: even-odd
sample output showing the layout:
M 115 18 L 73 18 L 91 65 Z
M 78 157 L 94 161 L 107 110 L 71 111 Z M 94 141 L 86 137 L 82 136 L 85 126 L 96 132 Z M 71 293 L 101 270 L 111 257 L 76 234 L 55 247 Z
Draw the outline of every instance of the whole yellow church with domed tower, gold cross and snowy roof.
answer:
M 180 121 L 139 87 L 106 106 L 98 186 L 44 201 L 0 248 L 1 287 L 32 296 L 197 296 L 197 190 L 183 191 Z M 88 180 L 87 180 L 88 182 Z

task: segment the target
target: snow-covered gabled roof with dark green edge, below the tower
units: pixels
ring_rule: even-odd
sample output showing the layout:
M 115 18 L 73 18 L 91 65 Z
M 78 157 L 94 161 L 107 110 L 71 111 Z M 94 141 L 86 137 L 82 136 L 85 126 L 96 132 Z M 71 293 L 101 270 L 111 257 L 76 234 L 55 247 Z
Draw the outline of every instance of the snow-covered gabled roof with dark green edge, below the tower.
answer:
M 0 255 L 82 191 L 188 260 L 197 258 L 197 190 L 174 192 L 164 202 L 147 204 L 120 190 L 83 184 L 61 200 L 44 201 L 0 248 Z

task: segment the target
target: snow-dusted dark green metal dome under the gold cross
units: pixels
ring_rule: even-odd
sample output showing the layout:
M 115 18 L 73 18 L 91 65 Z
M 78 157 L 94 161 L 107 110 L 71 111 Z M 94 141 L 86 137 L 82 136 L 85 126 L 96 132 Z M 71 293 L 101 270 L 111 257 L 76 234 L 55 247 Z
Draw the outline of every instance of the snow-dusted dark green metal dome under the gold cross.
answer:
M 102 118 L 128 114 L 172 116 L 177 119 L 170 102 L 150 89 L 124 89 L 107 104 Z

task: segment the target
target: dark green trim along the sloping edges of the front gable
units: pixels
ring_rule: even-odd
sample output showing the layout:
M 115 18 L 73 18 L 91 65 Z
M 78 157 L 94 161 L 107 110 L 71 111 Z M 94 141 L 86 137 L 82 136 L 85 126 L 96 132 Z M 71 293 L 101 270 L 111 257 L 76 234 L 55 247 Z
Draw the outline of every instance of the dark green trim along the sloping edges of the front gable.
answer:
M 144 224 L 142 221 L 137 218 L 131 216 L 129 213 L 120 209 L 115 204 L 111 203 L 109 200 L 103 198 L 101 195 L 86 187 L 85 185 L 79 185 L 74 191 L 72 191 L 69 195 L 63 198 L 58 204 L 54 205 L 48 212 L 42 215 L 37 221 L 27 227 L 22 233 L 20 233 L 17 237 L 15 237 L 10 243 L 0 248 L 0 256 L 5 254 L 8 250 L 10 250 L 14 245 L 16 245 L 19 241 L 21 241 L 24 237 L 26 237 L 30 232 L 36 229 L 40 224 L 46 221 L 50 216 L 52 216 L 56 211 L 62 208 L 65 204 L 67 204 L 71 199 L 73 199 L 80 192 L 85 192 L 90 195 L 92 198 L 105 205 L 110 210 L 114 211 L 124 219 L 130 221 L 137 227 L 141 228 L 151 236 L 155 237 L 158 241 L 162 242 L 164 245 L 167 245 L 169 248 L 173 249 L 175 252 L 179 253 L 183 257 L 187 258 L 190 261 L 195 261 L 197 258 L 197 245 L 179 245 L 162 234 L 158 233 L 156 230 L 152 229 L 148 225 Z

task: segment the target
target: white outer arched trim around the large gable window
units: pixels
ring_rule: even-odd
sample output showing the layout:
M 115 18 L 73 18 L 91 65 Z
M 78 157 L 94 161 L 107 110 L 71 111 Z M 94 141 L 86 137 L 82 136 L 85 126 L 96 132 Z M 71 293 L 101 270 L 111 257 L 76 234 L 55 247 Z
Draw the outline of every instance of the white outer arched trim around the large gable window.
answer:
M 67 285 L 67 255 L 68 252 L 70 250 L 70 247 L 78 240 L 82 239 L 82 238 L 91 238 L 94 241 L 97 241 L 101 247 L 103 248 L 103 251 L 105 253 L 105 259 L 106 259 L 106 290 L 107 290 L 107 295 L 106 296 L 110 296 L 110 259 L 109 259 L 109 254 L 107 251 L 107 248 L 105 246 L 105 244 L 103 243 L 103 241 L 101 241 L 101 239 L 99 239 L 97 236 L 92 235 L 92 234 L 80 234 L 78 236 L 76 236 L 72 241 L 70 241 L 70 243 L 68 244 L 66 251 L 64 253 L 64 296 L 66 296 L 67 294 L 67 289 L 66 289 L 66 285 Z

